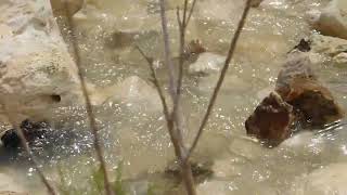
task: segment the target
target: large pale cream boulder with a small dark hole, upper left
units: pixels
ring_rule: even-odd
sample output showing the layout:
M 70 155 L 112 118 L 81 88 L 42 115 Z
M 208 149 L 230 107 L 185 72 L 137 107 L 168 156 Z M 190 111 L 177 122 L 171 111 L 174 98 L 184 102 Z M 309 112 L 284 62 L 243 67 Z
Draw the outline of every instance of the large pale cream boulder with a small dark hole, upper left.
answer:
M 2 13 L 0 21 L 13 34 L 0 39 L 0 104 L 21 122 L 31 115 L 51 117 L 51 108 L 76 103 L 77 70 L 50 4 L 16 2 Z

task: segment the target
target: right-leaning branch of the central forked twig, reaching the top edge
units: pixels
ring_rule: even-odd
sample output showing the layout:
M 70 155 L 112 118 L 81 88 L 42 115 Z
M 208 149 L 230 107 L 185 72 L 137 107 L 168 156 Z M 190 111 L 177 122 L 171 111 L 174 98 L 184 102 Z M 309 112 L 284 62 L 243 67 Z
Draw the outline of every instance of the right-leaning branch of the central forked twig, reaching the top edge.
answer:
M 230 43 L 230 48 L 229 48 L 229 52 L 228 52 L 223 68 L 221 69 L 221 73 L 220 73 L 219 79 L 217 81 L 217 84 L 215 87 L 214 93 L 213 93 L 213 95 L 211 95 L 211 98 L 209 100 L 207 110 L 206 110 L 206 113 L 204 115 L 204 118 L 203 118 L 202 123 L 201 123 L 201 126 L 198 128 L 197 134 L 196 134 L 196 136 L 195 136 L 195 139 L 193 141 L 193 144 L 192 144 L 191 148 L 189 150 L 189 153 L 187 155 L 185 160 L 189 159 L 189 157 L 192 155 L 194 148 L 196 147 L 197 142 L 198 142 L 198 140 L 200 140 L 202 133 L 203 133 L 203 130 L 204 130 L 204 128 L 205 128 L 205 126 L 206 126 L 206 123 L 208 121 L 209 115 L 213 112 L 213 108 L 214 108 L 214 105 L 216 103 L 219 90 L 220 90 L 220 88 L 221 88 L 221 86 L 223 83 L 226 74 L 228 72 L 230 61 L 233 57 L 237 40 L 239 40 L 241 31 L 242 31 L 242 29 L 243 29 L 243 27 L 245 25 L 246 17 L 247 17 L 249 9 L 250 9 L 250 1 L 252 0 L 247 0 L 246 5 L 245 5 L 245 8 L 243 10 L 243 13 L 242 13 L 241 20 L 239 22 L 237 28 L 236 28 L 233 37 L 232 37 L 232 40 L 231 40 L 231 43 Z

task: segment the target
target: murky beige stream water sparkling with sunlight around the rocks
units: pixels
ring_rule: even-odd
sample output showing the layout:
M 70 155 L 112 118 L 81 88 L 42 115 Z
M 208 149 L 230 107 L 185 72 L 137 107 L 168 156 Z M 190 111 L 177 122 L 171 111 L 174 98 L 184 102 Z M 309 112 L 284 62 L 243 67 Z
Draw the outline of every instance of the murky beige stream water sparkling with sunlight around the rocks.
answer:
M 303 132 L 277 148 L 265 148 L 247 139 L 244 129 L 246 117 L 261 96 L 273 88 L 286 52 L 299 39 L 310 35 L 305 12 L 325 4 L 325 0 L 266 0 L 261 8 L 250 11 L 227 82 L 196 151 L 215 162 L 215 176 L 209 180 L 213 184 L 203 185 L 204 193 L 215 194 L 219 192 L 218 186 L 219 190 L 224 188 L 222 194 L 295 194 L 293 185 L 300 176 L 322 166 L 347 161 L 347 126 L 321 133 Z M 175 6 L 172 1 L 168 8 L 174 55 L 179 42 Z M 224 55 L 242 10 L 240 8 L 242 5 L 230 0 L 201 0 L 191 21 L 188 39 L 200 39 L 209 52 Z M 136 32 L 136 42 L 149 55 L 162 60 L 157 10 L 155 2 L 110 0 L 90 2 L 76 15 L 82 62 L 92 83 L 103 88 L 132 75 L 149 80 L 146 64 L 130 43 L 125 41 L 125 46 L 114 47 L 106 42 L 116 30 Z M 344 67 L 334 67 L 326 62 L 313 68 L 346 109 L 347 75 Z M 160 81 L 167 83 L 166 69 L 158 67 L 157 72 Z M 215 81 L 216 78 L 211 78 L 206 82 Z M 182 103 L 188 143 L 196 132 L 211 92 L 210 84 L 201 83 L 195 77 L 184 78 Z M 137 180 L 145 173 L 164 170 L 174 158 L 160 113 L 131 113 L 119 103 L 106 103 L 95 109 L 110 170 L 121 161 L 123 177 Z M 72 117 L 66 119 L 66 116 Z M 67 182 L 87 185 L 86 178 L 90 176 L 95 159 L 91 157 L 92 144 L 86 133 L 88 128 L 83 116 L 80 107 L 56 109 L 57 121 L 61 119 L 56 128 L 73 130 L 78 136 L 72 139 L 73 135 L 67 134 L 66 139 L 72 139 L 73 144 L 56 143 L 50 152 L 38 154 L 44 171 L 55 183 L 60 183 L 57 170 L 63 170 Z M 23 164 L 23 158 L 9 156 L 7 172 L 15 176 L 33 194 L 44 194 L 38 190 L 42 186 L 35 170 Z

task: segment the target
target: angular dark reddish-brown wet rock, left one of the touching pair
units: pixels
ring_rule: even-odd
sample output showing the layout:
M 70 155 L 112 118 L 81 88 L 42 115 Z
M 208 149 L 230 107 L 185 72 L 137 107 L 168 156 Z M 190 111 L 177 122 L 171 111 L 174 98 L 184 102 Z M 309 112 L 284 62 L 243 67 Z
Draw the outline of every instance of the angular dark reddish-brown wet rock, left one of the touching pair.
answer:
M 248 135 L 254 135 L 266 144 L 275 146 L 292 134 L 293 107 L 272 92 L 247 118 L 245 127 Z

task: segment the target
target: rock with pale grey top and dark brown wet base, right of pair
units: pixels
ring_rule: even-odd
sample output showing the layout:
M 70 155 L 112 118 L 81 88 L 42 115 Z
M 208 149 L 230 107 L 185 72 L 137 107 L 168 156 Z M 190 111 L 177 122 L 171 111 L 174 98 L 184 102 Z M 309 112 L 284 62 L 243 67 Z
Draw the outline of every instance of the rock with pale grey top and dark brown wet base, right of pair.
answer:
M 323 127 L 343 117 L 340 107 L 318 81 L 306 55 L 297 55 L 283 65 L 275 91 L 295 108 L 304 127 Z

